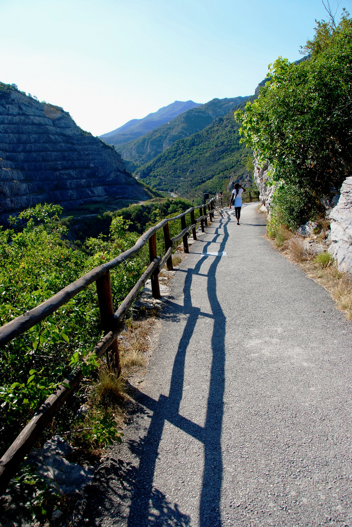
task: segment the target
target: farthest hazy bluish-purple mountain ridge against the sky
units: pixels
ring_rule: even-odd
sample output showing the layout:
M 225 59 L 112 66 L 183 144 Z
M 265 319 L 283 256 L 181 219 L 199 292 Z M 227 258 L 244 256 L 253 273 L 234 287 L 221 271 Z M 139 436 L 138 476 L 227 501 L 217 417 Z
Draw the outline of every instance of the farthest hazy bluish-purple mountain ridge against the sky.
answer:
M 175 101 L 172 104 L 163 106 L 163 108 L 159 108 L 157 112 L 149 113 L 143 119 L 132 119 L 120 126 L 120 128 L 100 135 L 99 139 L 103 139 L 108 144 L 112 144 L 118 150 L 120 145 L 134 141 L 141 135 L 154 130 L 157 126 L 172 121 L 177 115 L 186 112 L 190 108 L 197 108 L 198 106 L 200 104 L 193 101 Z

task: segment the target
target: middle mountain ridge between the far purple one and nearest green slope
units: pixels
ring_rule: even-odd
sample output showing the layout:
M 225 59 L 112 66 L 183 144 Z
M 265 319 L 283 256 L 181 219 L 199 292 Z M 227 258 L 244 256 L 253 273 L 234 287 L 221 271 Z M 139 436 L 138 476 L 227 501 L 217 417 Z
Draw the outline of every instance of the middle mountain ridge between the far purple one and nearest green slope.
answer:
M 248 97 L 233 97 L 232 99 L 213 99 L 187 110 L 169 123 L 158 126 L 135 141 L 130 141 L 118 148 L 131 172 L 148 163 L 158 154 L 171 147 L 175 141 L 204 130 L 218 117 L 226 115 Z M 108 141 L 109 142 L 109 141 Z

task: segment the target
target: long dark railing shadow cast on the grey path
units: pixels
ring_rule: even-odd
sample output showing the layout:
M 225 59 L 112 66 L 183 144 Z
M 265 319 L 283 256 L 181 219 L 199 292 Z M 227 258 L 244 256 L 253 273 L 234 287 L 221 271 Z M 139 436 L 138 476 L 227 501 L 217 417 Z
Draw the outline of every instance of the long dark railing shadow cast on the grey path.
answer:
M 219 228 L 224 229 L 224 236 L 220 243 L 220 248 L 225 249 L 228 239 L 227 223 L 230 219 L 219 220 Z M 220 437 L 222 432 L 223 420 L 223 397 L 225 389 L 225 329 L 226 318 L 216 296 L 216 268 L 219 264 L 219 256 L 206 255 L 207 247 L 214 243 L 217 236 L 223 235 L 214 232 L 214 238 L 207 241 L 203 248 L 204 257 L 201 257 L 195 268 L 187 269 L 184 282 L 184 305 L 179 306 L 169 302 L 168 313 L 166 316 L 177 317 L 180 314 L 188 315 L 183 335 L 179 340 L 178 350 L 174 360 L 172 378 L 170 382 L 169 395 L 160 395 L 158 401 L 134 389 L 132 397 L 135 401 L 153 412 L 150 425 L 146 436 L 138 442 L 130 444 L 131 450 L 139 457 L 139 467 L 136 473 L 134 489 L 132 491 L 131 502 L 128 515 L 128 527 L 147 527 L 177 525 L 183 527 L 188 525 L 188 516 L 178 519 L 178 523 L 173 523 L 175 518 L 172 514 L 168 516 L 165 508 L 158 510 L 158 514 L 153 513 L 154 509 L 159 509 L 161 502 L 157 503 L 153 488 L 155 465 L 158 456 L 159 444 L 162 438 L 165 421 L 172 423 L 185 433 L 193 436 L 204 444 L 205 462 L 203 472 L 202 491 L 199 503 L 199 526 L 215 527 L 221 525 L 220 516 L 220 493 L 223 477 L 223 462 Z M 200 268 L 205 258 L 213 258 L 207 275 L 207 295 L 212 313 L 202 313 L 200 308 L 192 306 L 190 289 L 194 275 L 200 274 Z M 189 419 L 179 414 L 179 407 L 182 400 L 184 384 L 184 368 L 187 347 L 194 333 L 199 316 L 208 316 L 214 320 L 212 335 L 212 364 L 210 371 L 209 395 L 207 401 L 207 412 L 205 426 L 199 426 Z M 175 504 L 175 508 L 176 508 Z M 172 510 L 175 511 L 176 509 Z M 152 510 L 151 510 L 152 509 Z M 178 511 L 179 512 L 179 511 Z M 180 512 L 179 512 L 180 514 Z

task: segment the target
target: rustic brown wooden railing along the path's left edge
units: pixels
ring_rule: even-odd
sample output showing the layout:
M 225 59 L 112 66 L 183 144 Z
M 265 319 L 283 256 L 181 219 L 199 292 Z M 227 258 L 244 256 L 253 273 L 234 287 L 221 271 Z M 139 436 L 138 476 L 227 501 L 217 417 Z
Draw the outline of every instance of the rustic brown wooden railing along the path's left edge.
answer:
M 195 210 L 199 209 L 199 218 L 195 219 Z M 208 209 L 208 210 L 207 210 Z M 190 214 L 190 227 L 186 226 L 186 215 Z M 107 354 L 108 364 L 115 370 L 117 375 L 121 373 L 120 358 L 117 345 L 117 337 L 123 330 L 123 319 L 128 309 L 137 298 L 140 289 L 145 285 L 148 278 L 152 282 L 152 295 L 154 298 L 160 298 L 158 274 L 167 265 L 168 270 L 173 269 L 172 250 L 176 243 L 182 238 L 184 251 L 188 250 L 188 235 L 193 234 L 193 239 L 197 239 L 196 227 L 200 222 L 202 232 L 204 226 L 208 225 L 208 217 L 211 222 L 214 218 L 214 198 L 208 203 L 199 207 L 192 207 L 174 218 L 166 218 L 160 221 L 155 227 L 147 230 L 135 243 L 133 247 L 123 252 L 106 264 L 100 265 L 86 275 L 82 276 L 72 284 L 57 292 L 42 304 L 27 311 L 23 315 L 11 320 L 8 324 L 0 327 L 0 345 L 8 343 L 13 338 L 23 334 L 27 329 L 33 327 L 44 320 L 48 315 L 54 313 L 61 306 L 66 304 L 71 298 L 80 291 L 96 282 L 96 289 L 99 302 L 100 319 L 104 330 L 104 337 L 94 347 L 92 354 L 97 358 L 101 357 L 104 352 Z M 169 222 L 181 220 L 182 231 L 170 238 Z M 163 257 L 157 256 L 156 253 L 156 232 L 163 229 L 165 254 Z M 120 304 L 116 313 L 113 308 L 113 298 L 110 287 L 110 269 L 122 264 L 125 260 L 135 255 L 146 242 L 149 242 L 149 259 L 150 264 L 143 275 L 137 281 L 137 284 L 129 292 L 127 297 Z M 89 358 L 86 357 L 85 360 Z M 23 428 L 12 445 L 0 460 L 0 494 L 6 491 L 7 484 L 11 477 L 16 473 L 19 463 L 31 450 L 33 444 L 38 439 L 44 427 L 51 421 L 59 408 L 74 393 L 83 378 L 81 367 L 76 368 L 56 389 L 55 393 L 49 396 L 46 401 L 39 407 L 31 421 Z

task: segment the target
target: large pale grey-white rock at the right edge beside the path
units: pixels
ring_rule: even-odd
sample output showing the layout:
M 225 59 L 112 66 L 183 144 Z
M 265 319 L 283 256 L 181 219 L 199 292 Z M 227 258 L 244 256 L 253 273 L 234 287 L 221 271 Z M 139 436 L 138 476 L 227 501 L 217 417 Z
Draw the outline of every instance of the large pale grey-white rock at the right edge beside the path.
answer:
M 352 177 L 343 182 L 340 199 L 330 212 L 330 219 L 329 252 L 337 259 L 340 271 L 352 272 Z

